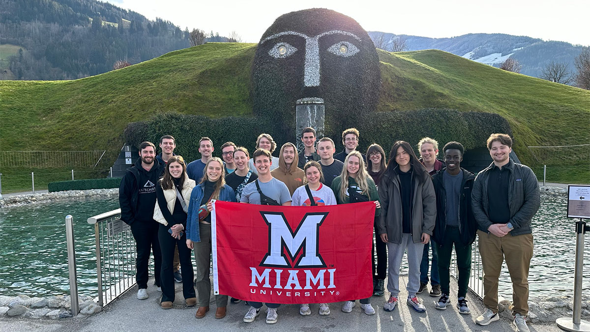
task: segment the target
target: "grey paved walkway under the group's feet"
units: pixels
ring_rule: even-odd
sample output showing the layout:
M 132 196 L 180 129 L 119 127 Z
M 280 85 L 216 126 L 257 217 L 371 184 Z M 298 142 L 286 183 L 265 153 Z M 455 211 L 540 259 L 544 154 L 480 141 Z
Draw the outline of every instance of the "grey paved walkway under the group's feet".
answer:
M 407 277 L 402 276 L 401 285 Z M 376 310 L 373 316 L 365 315 L 358 304 L 352 313 L 340 311 L 342 302 L 330 304 L 332 313 L 327 316 L 317 314 L 317 304 L 312 304 L 312 314 L 301 316 L 299 305 L 282 305 L 278 309 L 278 322 L 266 324 L 266 313 L 257 317 L 254 323 L 244 323 L 242 318 L 248 310 L 244 302 L 228 304 L 228 314 L 222 320 L 215 320 L 215 300 L 211 301 L 211 311 L 202 319 L 195 318 L 196 308 L 183 305 L 182 290 L 176 284 L 176 301 L 172 310 L 159 307 L 159 292 L 150 282 L 148 300 L 137 300 L 136 288 L 124 294 L 119 300 L 110 304 L 103 312 L 87 318 L 72 318 L 65 321 L 26 320 L 22 318 L 0 318 L 0 331 L 84 331 L 84 332 L 119 332 L 119 331 L 514 331 L 512 321 L 500 318 L 489 326 L 478 326 L 474 319 L 483 312 L 483 304 L 473 294 L 468 294 L 471 315 L 461 315 L 454 307 L 456 298 L 451 297 L 453 306 L 441 311 L 434 308 L 438 298 L 430 297 L 426 292 L 418 297 L 427 308 L 423 314 L 415 313 L 404 301 L 391 313 L 383 311 L 386 297 L 372 297 Z M 451 293 L 456 294 L 457 284 L 451 278 Z M 388 292 L 386 292 L 388 295 Z M 402 290 L 400 298 L 405 300 L 407 292 Z M 531 331 L 561 331 L 555 324 L 530 324 Z

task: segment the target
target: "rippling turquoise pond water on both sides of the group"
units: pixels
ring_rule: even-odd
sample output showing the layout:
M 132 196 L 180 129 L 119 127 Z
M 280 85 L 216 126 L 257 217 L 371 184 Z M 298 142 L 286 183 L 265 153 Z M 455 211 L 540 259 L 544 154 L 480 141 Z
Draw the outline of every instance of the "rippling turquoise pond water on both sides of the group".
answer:
M 117 209 L 116 198 L 30 204 L 0 209 L 0 294 L 58 295 L 68 293 L 64 219 L 74 216 L 78 291 L 97 295 L 94 227 L 88 217 Z M 565 197 L 542 196 L 533 219 L 535 252 L 530 267 L 530 296 L 573 294 L 574 219 L 565 216 Z M 590 236 L 586 236 L 586 253 Z M 499 292 L 512 298 L 506 264 Z M 407 265 L 402 266 L 402 273 Z M 590 295 L 590 255 L 584 264 L 584 295 Z

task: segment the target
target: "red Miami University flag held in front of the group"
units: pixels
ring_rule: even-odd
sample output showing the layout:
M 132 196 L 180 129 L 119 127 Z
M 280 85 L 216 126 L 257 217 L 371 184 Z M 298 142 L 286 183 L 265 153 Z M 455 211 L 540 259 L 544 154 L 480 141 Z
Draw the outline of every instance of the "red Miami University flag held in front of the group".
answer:
M 371 297 L 373 202 L 264 206 L 214 201 L 215 294 L 297 304 Z

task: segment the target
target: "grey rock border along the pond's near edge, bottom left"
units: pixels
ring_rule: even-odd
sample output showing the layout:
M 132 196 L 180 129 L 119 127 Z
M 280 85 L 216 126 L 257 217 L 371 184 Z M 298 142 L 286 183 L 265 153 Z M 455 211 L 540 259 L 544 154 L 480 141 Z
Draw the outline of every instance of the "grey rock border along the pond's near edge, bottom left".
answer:
M 103 310 L 92 297 L 78 297 L 80 313 L 76 318 L 84 318 Z M 29 297 L 0 295 L 0 317 L 20 317 L 31 320 L 60 320 L 74 317 L 71 313 L 70 295 L 52 297 Z

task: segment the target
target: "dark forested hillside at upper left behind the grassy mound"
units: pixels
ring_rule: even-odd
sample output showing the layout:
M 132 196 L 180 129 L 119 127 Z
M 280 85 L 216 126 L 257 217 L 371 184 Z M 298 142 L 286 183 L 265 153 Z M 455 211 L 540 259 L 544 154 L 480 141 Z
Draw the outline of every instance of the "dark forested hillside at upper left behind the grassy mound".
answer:
M 188 29 L 107 2 L 0 0 L 0 79 L 78 79 L 186 47 Z

